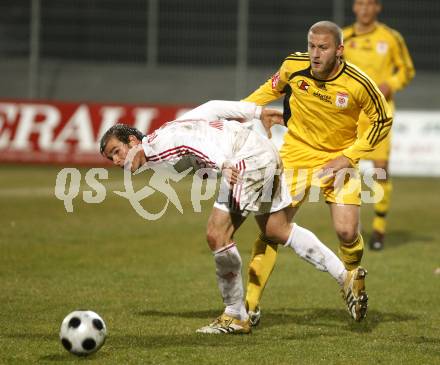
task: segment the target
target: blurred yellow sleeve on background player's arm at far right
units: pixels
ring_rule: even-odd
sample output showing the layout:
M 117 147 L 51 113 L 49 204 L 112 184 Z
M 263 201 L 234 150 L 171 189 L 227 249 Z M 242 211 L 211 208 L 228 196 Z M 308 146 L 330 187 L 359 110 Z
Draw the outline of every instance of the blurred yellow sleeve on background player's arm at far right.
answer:
M 393 31 L 393 35 L 395 44 L 391 47 L 391 52 L 396 72 L 388 80 L 388 84 L 396 92 L 414 78 L 415 69 L 403 37 L 396 31 Z

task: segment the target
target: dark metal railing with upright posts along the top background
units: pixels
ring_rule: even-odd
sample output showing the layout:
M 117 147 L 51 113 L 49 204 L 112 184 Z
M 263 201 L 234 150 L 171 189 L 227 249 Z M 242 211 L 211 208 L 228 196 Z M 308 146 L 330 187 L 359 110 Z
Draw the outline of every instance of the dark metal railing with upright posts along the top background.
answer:
M 27 57 L 29 98 L 38 98 L 40 67 L 69 62 L 235 68 L 235 95 L 249 68 L 275 68 L 304 50 L 321 19 L 353 21 L 351 0 L 3 0 L 0 59 Z M 440 2 L 388 0 L 381 19 L 401 31 L 418 70 L 440 67 Z M 436 15 L 437 14 L 437 15 Z M 3 24 L 1 24 L 3 23 Z M 1 31 L 3 30 L 3 31 Z M 25 95 L 23 95 L 25 96 Z

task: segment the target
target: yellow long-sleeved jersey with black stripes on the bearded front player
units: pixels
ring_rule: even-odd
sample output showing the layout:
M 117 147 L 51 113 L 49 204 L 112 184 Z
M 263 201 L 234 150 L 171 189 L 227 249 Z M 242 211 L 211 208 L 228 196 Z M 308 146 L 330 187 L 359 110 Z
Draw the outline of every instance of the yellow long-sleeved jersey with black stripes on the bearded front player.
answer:
M 293 53 L 244 100 L 266 105 L 280 97 L 288 128 L 280 151 L 286 167 L 318 167 L 341 154 L 357 163 L 391 128 L 392 113 L 376 84 L 345 61 L 334 77 L 320 80 L 311 73 L 308 53 Z M 371 123 L 358 138 L 361 111 Z

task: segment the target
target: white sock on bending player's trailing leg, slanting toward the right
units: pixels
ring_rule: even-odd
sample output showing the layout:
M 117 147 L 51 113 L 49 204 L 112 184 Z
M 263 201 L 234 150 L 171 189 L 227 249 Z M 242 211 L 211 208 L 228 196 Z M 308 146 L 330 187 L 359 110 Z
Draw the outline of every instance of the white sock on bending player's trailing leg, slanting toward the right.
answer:
M 291 247 L 297 255 L 318 270 L 327 271 L 339 285 L 344 284 L 347 275 L 344 264 L 313 232 L 294 223 L 284 246 Z

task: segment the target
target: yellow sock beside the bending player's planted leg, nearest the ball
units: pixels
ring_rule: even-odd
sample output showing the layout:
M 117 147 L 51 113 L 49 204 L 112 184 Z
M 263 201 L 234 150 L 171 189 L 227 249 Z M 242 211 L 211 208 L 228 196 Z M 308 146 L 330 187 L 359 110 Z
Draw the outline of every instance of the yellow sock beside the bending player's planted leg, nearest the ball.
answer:
M 270 242 L 261 235 L 254 243 L 246 290 L 246 307 L 248 310 L 254 312 L 260 304 L 264 287 L 275 266 L 277 249 L 278 245 L 276 243 Z

